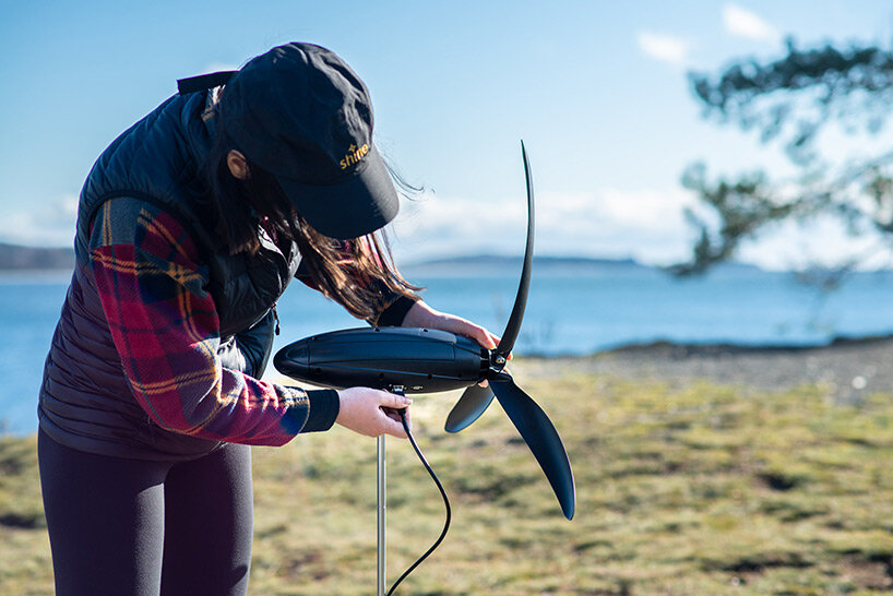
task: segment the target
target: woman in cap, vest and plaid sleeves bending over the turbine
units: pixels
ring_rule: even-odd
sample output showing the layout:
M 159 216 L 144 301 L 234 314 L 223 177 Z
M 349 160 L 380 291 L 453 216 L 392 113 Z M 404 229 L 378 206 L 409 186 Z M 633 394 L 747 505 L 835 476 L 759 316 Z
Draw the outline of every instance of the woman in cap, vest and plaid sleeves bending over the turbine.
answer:
M 337 56 L 288 44 L 202 82 L 121 134 L 81 194 L 39 405 L 60 595 L 243 594 L 249 445 L 335 422 L 405 437 L 388 413 L 406 397 L 258 380 L 293 277 L 373 324 L 496 346 L 421 301 L 373 234 L 397 195 Z

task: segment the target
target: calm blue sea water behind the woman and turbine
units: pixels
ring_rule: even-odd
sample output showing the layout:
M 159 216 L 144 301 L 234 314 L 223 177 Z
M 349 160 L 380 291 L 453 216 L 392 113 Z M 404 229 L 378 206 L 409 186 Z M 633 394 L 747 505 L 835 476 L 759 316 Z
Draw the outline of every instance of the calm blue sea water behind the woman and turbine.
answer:
M 504 269 L 504 267 L 503 267 Z M 511 267 L 514 270 L 514 267 Z M 517 288 L 517 272 L 407 267 L 436 308 L 501 333 Z M 67 274 L 0 275 L 2 429 L 36 429 L 36 395 L 44 357 L 64 299 Z M 279 301 L 286 343 L 335 329 L 361 326 L 340 307 L 300 284 Z M 834 336 L 893 332 L 893 272 L 853 275 L 820 296 L 790 274 L 727 267 L 679 281 L 632 265 L 534 270 L 519 354 L 590 354 L 630 343 L 820 344 Z

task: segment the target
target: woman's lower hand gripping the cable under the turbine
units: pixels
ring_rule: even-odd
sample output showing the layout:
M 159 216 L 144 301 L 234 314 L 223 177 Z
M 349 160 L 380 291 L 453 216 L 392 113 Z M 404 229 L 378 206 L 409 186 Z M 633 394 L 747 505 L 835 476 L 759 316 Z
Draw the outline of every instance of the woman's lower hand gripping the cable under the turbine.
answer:
M 409 404 L 413 400 L 386 391 L 369 388 L 348 388 L 338 391 L 341 409 L 335 422 L 354 432 L 367 437 L 390 434 L 406 439 L 406 431 L 394 412 L 406 409 L 406 424 L 409 424 Z

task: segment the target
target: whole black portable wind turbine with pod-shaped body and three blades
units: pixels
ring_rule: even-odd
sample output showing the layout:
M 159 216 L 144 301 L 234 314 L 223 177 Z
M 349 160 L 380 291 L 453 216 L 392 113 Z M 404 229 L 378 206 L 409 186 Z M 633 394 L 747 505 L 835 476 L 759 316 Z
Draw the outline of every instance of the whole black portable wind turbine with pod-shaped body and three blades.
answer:
M 496 396 L 545 472 L 562 513 L 570 520 L 576 491 L 564 445 L 546 413 L 504 370 L 524 318 L 533 261 L 533 180 L 523 143 L 521 151 L 527 179 L 527 245 L 517 297 L 495 349 L 483 348 L 473 339 L 444 331 L 365 327 L 300 339 L 282 348 L 273 363 L 293 379 L 337 389 L 402 388 L 406 393 L 434 393 L 467 388 L 446 418 L 449 432 L 459 432 L 477 420 Z M 484 380 L 488 381 L 488 388 L 478 384 Z

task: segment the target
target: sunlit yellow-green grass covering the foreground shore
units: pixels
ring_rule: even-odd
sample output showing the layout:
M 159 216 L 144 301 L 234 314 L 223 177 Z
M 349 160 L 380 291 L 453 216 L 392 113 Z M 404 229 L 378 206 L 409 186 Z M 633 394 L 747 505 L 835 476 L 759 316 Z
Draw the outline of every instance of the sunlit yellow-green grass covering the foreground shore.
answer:
M 456 436 L 455 394 L 416 400 L 417 439 L 453 502 L 404 594 L 893 592 L 893 393 L 759 393 L 606 376 L 515 376 L 559 429 L 576 516 L 498 405 Z M 0 592 L 51 594 L 35 441 L 0 440 Z M 342 429 L 255 449 L 251 594 L 370 594 L 376 445 Z M 389 577 L 443 522 L 408 443 L 389 441 Z

